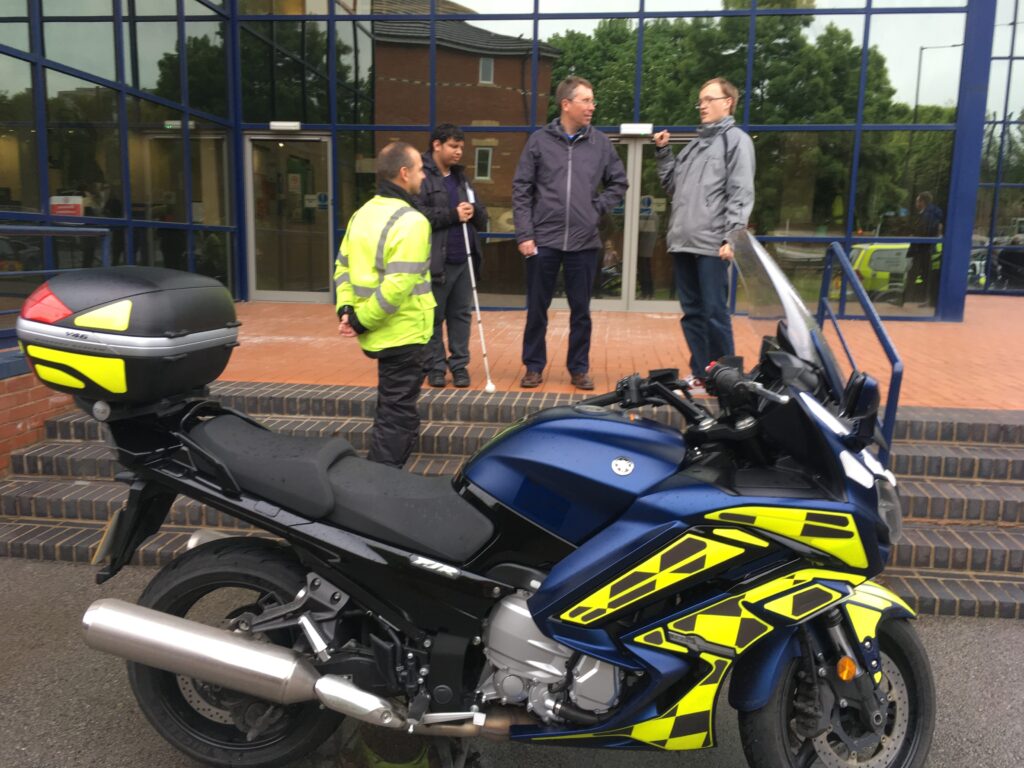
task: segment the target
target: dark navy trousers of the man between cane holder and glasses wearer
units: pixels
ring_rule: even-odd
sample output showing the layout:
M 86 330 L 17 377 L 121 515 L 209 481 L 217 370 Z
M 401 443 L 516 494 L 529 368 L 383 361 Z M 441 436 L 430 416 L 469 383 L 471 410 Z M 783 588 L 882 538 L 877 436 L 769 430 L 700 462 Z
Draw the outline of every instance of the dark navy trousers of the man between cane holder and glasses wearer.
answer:
M 597 274 L 598 251 L 559 251 L 538 248 L 526 259 L 526 329 L 522 335 L 522 362 L 538 373 L 548 365 L 548 307 L 555 293 L 559 268 L 565 270 L 565 298 L 569 302 L 569 348 L 565 367 L 570 374 L 590 371 L 590 297 Z

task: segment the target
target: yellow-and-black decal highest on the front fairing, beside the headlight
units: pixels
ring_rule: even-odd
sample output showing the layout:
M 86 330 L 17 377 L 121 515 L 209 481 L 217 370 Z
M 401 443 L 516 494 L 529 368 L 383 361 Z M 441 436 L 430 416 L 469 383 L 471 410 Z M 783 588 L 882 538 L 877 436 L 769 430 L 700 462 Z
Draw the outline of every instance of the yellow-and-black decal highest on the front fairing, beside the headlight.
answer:
M 851 567 L 867 567 L 867 555 L 853 515 L 845 512 L 752 506 L 710 512 L 706 517 L 777 534 L 826 552 Z

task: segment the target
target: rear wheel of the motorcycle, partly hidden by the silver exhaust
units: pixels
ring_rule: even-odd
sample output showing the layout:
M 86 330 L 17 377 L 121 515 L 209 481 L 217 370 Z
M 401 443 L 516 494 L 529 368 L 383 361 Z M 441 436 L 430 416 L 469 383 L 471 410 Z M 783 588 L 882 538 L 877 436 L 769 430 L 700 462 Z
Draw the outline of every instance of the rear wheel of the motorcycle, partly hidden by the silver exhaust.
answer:
M 286 548 L 257 539 L 228 539 L 197 547 L 150 582 L 139 605 L 213 626 L 243 611 L 290 602 L 306 570 Z M 265 639 L 292 647 L 300 634 L 275 631 Z M 342 716 L 317 701 L 275 705 L 210 686 L 184 675 L 128 663 L 128 681 L 153 727 L 175 749 L 213 766 L 286 765 L 331 736 Z

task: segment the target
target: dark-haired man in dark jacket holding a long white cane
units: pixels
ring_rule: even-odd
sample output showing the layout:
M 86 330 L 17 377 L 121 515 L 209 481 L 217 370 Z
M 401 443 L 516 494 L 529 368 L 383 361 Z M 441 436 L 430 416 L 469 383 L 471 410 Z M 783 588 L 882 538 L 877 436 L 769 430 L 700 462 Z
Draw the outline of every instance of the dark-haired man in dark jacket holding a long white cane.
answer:
M 459 162 L 465 146 L 462 131 L 441 123 L 430 137 L 430 150 L 423 153 L 426 179 L 416 205 L 430 221 L 430 281 L 437 307 L 434 336 L 427 352 L 427 382 L 443 387 L 452 371 L 457 387 L 468 387 L 469 327 L 472 321 L 472 286 L 469 264 L 473 259 L 480 273 L 483 252 L 478 232 L 487 228 L 487 209 L 469 202 L 469 182 Z M 468 252 L 467 252 L 468 245 Z M 444 355 L 442 326 L 447 326 L 449 356 Z

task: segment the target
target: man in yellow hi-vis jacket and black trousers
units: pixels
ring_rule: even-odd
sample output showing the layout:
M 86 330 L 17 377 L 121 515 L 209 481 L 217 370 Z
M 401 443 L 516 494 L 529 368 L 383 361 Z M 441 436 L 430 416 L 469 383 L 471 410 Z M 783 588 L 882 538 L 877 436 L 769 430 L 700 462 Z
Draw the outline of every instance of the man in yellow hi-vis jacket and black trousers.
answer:
M 430 222 L 413 207 L 420 153 L 403 141 L 377 156 L 377 196 L 352 214 L 335 261 L 338 333 L 377 360 L 377 416 L 369 458 L 401 467 L 420 431 L 416 401 L 433 333 Z

